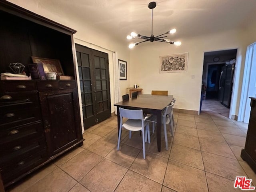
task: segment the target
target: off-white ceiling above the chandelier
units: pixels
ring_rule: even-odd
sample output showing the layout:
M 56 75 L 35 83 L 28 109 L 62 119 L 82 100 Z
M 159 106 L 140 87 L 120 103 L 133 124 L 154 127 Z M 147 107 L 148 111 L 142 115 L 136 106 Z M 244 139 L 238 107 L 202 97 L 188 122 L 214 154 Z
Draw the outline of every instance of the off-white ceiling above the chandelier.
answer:
M 134 31 L 151 35 L 150 0 L 33 0 L 49 11 L 65 13 L 120 40 Z M 256 22 L 256 0 L 155 0 L 153 34 L 172 28 L 171 40 L 220 30 L 246 28 Z

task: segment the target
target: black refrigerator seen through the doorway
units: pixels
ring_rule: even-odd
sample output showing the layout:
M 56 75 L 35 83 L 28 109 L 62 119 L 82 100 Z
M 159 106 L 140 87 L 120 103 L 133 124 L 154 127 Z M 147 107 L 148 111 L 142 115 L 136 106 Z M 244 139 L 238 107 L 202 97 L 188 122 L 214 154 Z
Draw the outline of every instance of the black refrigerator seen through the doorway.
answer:
M 220 103 L 230 108 L 230 100 L 232 95 L 233 76 L 235 64 L 226 64 L 222 67 L 219 82 L 219 100 Z

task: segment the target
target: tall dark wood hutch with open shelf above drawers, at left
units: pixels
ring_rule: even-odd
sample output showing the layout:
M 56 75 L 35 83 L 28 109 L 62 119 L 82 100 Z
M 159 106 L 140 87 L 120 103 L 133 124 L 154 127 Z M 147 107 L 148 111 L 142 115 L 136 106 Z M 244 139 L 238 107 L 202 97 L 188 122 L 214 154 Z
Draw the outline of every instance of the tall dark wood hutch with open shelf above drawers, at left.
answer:
M 0 0 L 0 72 L 31 56 L 60 60 L 74 80 L 0 80 L 0 176 L 4 187 L 82 145 L 76 30 Z M 0 177 L 1 178 L 1 177 Z

